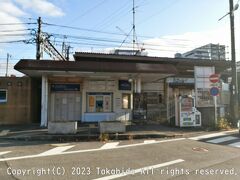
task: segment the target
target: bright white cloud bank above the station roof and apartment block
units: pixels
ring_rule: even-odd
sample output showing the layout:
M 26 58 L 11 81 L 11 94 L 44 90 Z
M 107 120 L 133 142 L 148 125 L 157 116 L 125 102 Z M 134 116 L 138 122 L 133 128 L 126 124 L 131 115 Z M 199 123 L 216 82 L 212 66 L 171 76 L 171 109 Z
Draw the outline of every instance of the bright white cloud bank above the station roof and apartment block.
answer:
M 148 39 L 144 41 L 144 48 L 150 56 L 174 57 L 175 53 L 184 53 L 209 43 L 229 47 L 230 33 L 228 27 Z

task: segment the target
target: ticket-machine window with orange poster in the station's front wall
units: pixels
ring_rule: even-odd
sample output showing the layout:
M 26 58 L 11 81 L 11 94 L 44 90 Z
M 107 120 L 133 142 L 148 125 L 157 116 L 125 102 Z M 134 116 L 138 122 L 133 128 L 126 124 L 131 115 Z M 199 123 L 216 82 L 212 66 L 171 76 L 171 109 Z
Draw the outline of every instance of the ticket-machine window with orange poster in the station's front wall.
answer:
M 112 93 L 87 93 L 87 112 L 112 112 Z

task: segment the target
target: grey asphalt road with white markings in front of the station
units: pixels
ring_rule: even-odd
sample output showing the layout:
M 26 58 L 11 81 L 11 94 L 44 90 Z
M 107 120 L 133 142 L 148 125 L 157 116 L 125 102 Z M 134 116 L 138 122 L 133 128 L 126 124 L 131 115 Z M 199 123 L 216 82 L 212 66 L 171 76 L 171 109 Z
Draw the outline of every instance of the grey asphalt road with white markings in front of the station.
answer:
M 103 142 L 0 142 L 0 179 L 240 179 L 238 135 Z

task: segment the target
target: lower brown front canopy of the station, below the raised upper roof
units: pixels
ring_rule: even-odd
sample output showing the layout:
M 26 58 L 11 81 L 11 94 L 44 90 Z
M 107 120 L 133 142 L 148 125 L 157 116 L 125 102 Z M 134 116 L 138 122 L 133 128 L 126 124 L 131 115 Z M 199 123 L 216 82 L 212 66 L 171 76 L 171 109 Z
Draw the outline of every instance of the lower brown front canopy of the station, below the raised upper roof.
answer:
M 161 73 L 176 74 L 171 64 L 97 62 L 97 61 L 53 61 L 53 60 L 20 60 L 14 68 L 29 76 L 46 71 L 71 72 L 112 72 L 112 73 Z M 31 73 L 32 71 L 32 73 Z

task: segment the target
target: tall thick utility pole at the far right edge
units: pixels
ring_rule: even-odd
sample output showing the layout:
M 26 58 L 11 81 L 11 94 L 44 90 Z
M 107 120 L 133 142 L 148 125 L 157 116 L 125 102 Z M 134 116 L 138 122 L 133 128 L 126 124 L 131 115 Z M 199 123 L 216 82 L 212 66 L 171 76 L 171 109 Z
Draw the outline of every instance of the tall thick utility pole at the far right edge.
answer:
M 231 82 L 231 98 L 230 98 L 230 110 L 234 123 L 237 122 L 238 113 L 238 82 L 237 82 L 237 69 L 236 69 L 236 55 L 235 55 L 235 34 L 234 34 L 234 10 L 233 0 L 229 0 L 229 15 L 230 15 L 230 30 L 231 30 L 231 68 L 232 68 L 232 82 Z

